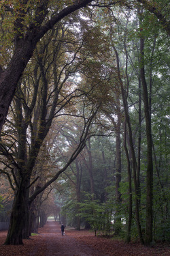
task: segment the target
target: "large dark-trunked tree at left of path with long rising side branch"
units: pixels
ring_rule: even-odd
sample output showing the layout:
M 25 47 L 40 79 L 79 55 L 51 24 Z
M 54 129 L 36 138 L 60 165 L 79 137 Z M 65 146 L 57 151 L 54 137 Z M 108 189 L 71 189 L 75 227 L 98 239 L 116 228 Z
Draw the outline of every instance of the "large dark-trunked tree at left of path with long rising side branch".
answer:
M 66 42 L 64 43 L 63 41 L 61 45 L 63 35 L 65 34 L 67 37 L 65 39 Z M 78 71 L 78 68 L 81 67 L 84 61 L 84 59 L 77 58 L 83 46 L 83 40 L 82 42 L 71 40 L 72 38 L 69 38 L 69 31 L 66 31 L 63 27 L 56 29 L 56 33 L 52 30 L 50 34 L 46 34 L 46 41 L 44 43 L 39 42 L 39 46 L 37 46 L 35 51 L 33 75 L 30 73 L 26 74 L 22 81 L 20 81 L 16 91 L 14 103 L 12 104 L 14 124 L 10 120 L 11 117 L 8 120 L 14 130 L 16 130 L 15 137 L 12 138 L 9 144 L 1 144 L 1 152 L 6 161 L 9 163 L 10 159 L 13 159 L 10 165 L 7 162 L 6 164 L 5 162 L 3 163 L 12 175 L 9 176 L 11 184 L 14 179 L 12 188 L 16 191 L 6 244 L 21 244 L 22 238 L 29 236 L 29 205 L 39 193 L 58 178 L 58 175 L 67 169 L 69 164 L 82 151 L 89 134 L 88 131 L 92 124 L 92 119 L 95 117 L 99 107 L 98 103 L 89 104 L 88 101 L 88 103 L 86 102 L 86 99 L 81 99 L 84 95 L 84 98 L 86 98 L 88 91 L 84 93 L 84 91 L 77 89 L 77 87 L 73 89 L 71 81 L 67 81 L 69 76 Z M 66 48 L 67 52 L 65 51 Z M 50 69 L 50 67 L 52 68 Z M 30 68 L 32 70 L 32 66 Z M 24 85 L 27 85 L 27 88 Z M 33 93 L 31 91 L 32 88 Z M 77 100 L 74 100 L 76 98 Z M 67 110 L 67 105 L 71 106 L 71 104 L 74 105 L 76 103 L 82 104 L 82 109 L 84 110 L 84 112 L 79 111 L 75 113 L 75 117 L 80 117 L 83 121 L 84 129 L 82 129 L 80 141 L 76 145 L 75 151 L 71 152 L 71 158 L 65 164 L 65 167 L 62 168 L 62 171 L 54 174 L 54 177 L 48 180 L 41 188 L 37 187 L 30 197 L 29 190 L 38 179 L 38 177 L 35 177 L 35 180 L 31 182 L 31 175 L 39 150 L 43 147 L 43 141 L 50 130 L 52 120 L 60 115 L 74 115 L 73 112 L 71 113 L 71 107 Z M 16 206 L 19 204 L 20 208 Z M 21 219 L 22 221 L 20 221 Z M 23 227 L 25 231 L 23 231 Z

